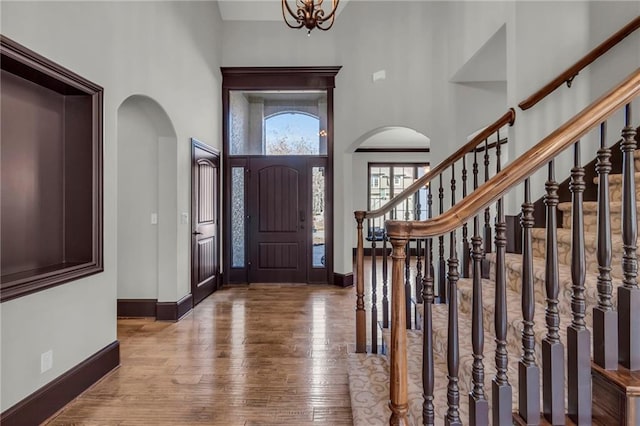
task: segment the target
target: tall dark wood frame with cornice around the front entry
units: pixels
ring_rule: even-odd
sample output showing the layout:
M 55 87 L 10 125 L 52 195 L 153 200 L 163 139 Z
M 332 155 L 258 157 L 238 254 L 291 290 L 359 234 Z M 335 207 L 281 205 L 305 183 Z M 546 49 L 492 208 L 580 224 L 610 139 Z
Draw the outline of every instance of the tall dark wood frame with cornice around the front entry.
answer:
M 333 281 L 333 89 L 335 76 L 342 67 L 222 67 L 222 132 L 223 132 L 223 281 L 248 282 L 247 268 L 231 267 L 231 169 L 246 167 L 246 157 L 229 155 L 229 92 L 231 90 L 326 90 L 327 93 L 327 164 L 326 164 L 326 280 Z M 246 198 L 245 198 L 246 205 Z M 246 235 L 245 235 L 246 237 Z M 245 242 L 246 245 L 246 242 Z

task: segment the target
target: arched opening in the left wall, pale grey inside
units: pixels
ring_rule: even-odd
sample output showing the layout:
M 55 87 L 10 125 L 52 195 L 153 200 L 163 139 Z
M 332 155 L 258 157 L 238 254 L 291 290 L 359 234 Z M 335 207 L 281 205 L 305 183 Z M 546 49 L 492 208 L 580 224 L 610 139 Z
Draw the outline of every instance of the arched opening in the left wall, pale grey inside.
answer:
M 175 269 L 176 132 L 155 100 L 118 108 L 118 299 L 158 299 Z M 173 238 L 175 239 L 175 238 Z M 166 278 L 164 278 L 166 279 Z M 174 283 L 175 286 L 175 283 Z

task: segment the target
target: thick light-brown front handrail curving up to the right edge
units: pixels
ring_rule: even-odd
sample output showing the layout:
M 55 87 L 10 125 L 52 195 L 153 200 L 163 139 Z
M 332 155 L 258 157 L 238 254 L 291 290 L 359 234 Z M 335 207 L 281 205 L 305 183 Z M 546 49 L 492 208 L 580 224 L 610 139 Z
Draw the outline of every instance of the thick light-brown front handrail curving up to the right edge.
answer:
M 639 95 L 640 68 L 446 213 L 425 221 L 387 221 L 387 235 L 392 239 L 429 238 L 454 231 Z

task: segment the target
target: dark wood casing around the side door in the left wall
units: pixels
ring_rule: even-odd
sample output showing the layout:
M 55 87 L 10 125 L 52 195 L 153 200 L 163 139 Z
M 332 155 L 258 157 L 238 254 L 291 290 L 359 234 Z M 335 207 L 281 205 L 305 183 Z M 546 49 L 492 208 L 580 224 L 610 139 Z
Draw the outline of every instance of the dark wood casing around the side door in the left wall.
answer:
M 212 232 L 214 238 L 214 259 L 215 263 L 213 265 L 213 276 L 207 280 L 199 279 L 199 271 L 197 270 L 194 256 L 196 256 L 196 244 L 198 243 L 198 236 L 200 234 L 199 230 L 196 229 L 196 224 L 198 223 L 198 212 L 196 211 L 197 204 L 197 184 L 196 180 L 198 177 L 196 176 L 196 162 L 201 162 L 203 160 L 197 159 L 196 150 L 201 150 L 210 154 L 210 158 L 204 161 L 212 163 L 215 167 L 215 187 L 213 188 L 215 191 L 214 195 L 214 216 L 215 223 L 213 225 L 209 225 L 208 231 Z M 200 142 L 197 139 L 191 139 L 191 252 L 190 252 L 190 268 L 191 268 L 191 295 L 193 296 L 193 306 L 200 303 L 203 299 L 217 290 L 222 282 L 220 279 L 220 152 L 215 148 Z

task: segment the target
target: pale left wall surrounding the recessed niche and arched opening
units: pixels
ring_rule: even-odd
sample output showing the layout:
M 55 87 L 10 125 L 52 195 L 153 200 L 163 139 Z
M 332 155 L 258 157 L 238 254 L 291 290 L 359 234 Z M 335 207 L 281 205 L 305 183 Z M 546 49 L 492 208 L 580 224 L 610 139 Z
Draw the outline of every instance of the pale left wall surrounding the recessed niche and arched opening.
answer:
M 175 125 L 177 171 L 170 192 L 177 254 L 171 288 L 189 292 L 190 140 L 221 146 L 219 76 L 221 23 L 210 2 L 8 2 L 2 34 L 102 85 L 104 97 L 105 271 L 0 305 L 1 410 L 113 342 L 117 282 L 117 109 L 128 96 L 155 99 Z M 159 200 L 162 203 L 162 200 Z M 135 235 L 130 238 L 136 238 Z M 40 374 L 40 354 L 53 350 L 53 369 Z

